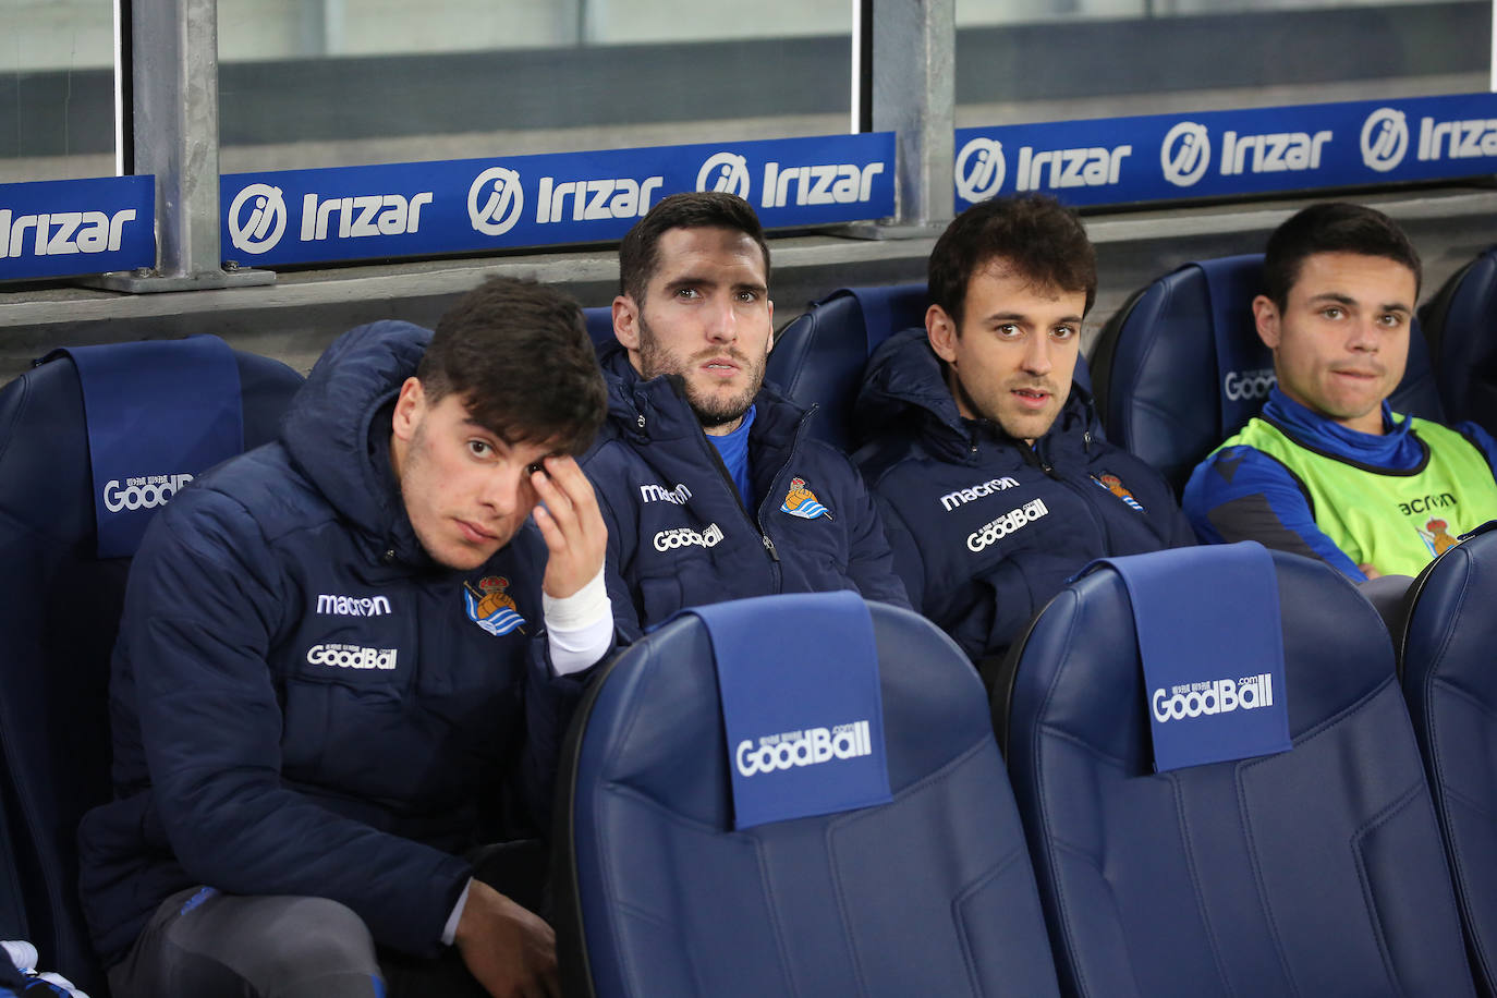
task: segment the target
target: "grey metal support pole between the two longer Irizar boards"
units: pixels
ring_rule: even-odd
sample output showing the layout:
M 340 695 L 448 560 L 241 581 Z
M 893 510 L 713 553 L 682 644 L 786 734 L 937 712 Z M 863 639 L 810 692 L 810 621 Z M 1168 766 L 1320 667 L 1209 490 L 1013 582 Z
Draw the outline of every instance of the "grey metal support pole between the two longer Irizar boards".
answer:
M 853 226 L 849 235 L 931 235 L 952 217 L 955 0 L 871 0 L 871 9 L 855 30 L 873 31 L 873 64 L 862 67 L 873 78 L 873 130 L 897 136 L 895 214 L 879 226 Z M 853 46 L 861 42 L 853 37 Z

